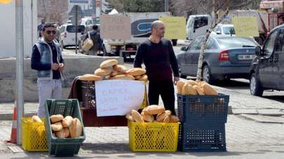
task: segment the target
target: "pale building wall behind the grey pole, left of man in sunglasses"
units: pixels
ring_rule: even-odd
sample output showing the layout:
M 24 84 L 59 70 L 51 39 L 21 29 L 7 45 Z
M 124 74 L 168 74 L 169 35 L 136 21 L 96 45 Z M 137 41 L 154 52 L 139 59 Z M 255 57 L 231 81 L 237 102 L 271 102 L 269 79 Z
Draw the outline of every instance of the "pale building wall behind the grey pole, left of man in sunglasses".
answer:
M 24 56 L 31 56 L 36 41 L 36 0 L 23 1 Z M 16 55 L 15 1 L 0 5 L 0 57 Z

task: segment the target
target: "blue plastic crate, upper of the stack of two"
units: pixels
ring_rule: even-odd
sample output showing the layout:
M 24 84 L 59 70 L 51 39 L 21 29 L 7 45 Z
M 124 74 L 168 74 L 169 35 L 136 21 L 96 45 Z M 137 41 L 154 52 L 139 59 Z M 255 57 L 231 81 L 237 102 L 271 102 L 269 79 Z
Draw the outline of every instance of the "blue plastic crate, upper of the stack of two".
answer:
M 177 94 L 177 114 L 184 123 L 226 123 L 229 96 L 184 96 Z

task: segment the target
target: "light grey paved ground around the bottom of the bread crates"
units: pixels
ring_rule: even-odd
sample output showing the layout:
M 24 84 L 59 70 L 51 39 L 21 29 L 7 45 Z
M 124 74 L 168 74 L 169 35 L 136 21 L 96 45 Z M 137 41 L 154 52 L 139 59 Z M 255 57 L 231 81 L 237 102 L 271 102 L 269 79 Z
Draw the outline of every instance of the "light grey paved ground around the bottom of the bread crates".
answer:
M 47 152 L 13 153 L 4 142 L 10 138 L 11 121 L 0 121 L 0 153 L 6 158 L 50 158 Z M 227 152 L 132 152 L 127 127 L 87 127 L 86 140 L 75 158 L 283 158 L 284 124 L 258 123 L 241 115 L 229 115 L 226 123 Z M 18 146 L 21 149 L 21 146 Z

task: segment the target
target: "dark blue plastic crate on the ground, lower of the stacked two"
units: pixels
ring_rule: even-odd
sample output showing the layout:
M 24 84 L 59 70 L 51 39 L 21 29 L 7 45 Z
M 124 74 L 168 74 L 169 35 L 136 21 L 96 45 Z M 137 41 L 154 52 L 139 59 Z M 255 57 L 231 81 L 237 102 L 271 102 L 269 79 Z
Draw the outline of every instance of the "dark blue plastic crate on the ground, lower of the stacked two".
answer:
M 180 124 L 178 150 L 187 151 L 226 151 L 226 133 L 223 124 Z

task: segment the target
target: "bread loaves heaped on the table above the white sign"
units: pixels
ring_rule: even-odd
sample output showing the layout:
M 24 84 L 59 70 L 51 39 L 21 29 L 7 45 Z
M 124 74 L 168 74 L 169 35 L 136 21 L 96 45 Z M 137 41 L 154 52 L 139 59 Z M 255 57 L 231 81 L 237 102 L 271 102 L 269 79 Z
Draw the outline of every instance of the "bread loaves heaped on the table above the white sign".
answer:
M 129 79 L 147 81 L 144 68 L 127 69 L 123 65 L 119 65 L 116 59 L 109 59 L 100 64 L 100 68 L 95 70 L 94 74 L 86 74 L 79 76 L 80 80 L 99 81 L 102 79 Z

